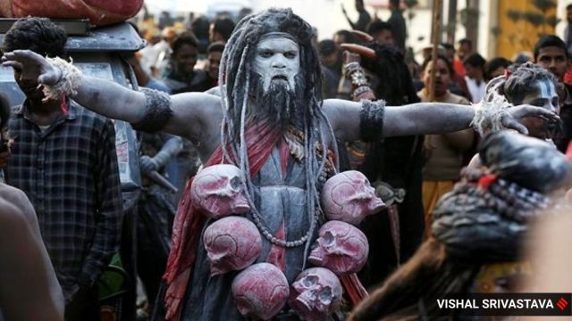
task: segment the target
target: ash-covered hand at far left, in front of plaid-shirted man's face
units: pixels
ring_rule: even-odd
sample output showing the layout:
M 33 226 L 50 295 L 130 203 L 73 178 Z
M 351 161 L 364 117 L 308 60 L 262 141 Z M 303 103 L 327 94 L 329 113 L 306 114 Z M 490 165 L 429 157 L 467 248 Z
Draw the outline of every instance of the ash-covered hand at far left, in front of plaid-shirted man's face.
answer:
M 14 50 L 11 53 L 4 53 L 2 65 L 37 75 L 40 85 L 55 85 L 62 78 L 62 70 L 30 50 Z

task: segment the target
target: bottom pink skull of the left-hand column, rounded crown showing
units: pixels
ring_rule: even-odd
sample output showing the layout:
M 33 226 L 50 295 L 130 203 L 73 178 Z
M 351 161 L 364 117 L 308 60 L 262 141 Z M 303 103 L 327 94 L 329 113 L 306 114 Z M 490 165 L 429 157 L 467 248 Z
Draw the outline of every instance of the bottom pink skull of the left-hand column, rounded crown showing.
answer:
M 232 296 L 244 317 L 268 320 L 284 307 L 290 289 L 280 268 L 257 263 L 234 278 Z

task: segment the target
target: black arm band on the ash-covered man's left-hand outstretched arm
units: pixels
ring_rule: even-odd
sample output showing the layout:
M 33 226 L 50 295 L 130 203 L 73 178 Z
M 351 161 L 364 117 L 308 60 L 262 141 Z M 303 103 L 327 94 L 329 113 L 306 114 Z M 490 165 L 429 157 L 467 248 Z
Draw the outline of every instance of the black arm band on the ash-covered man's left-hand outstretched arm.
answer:
M 131 124 L 135 130 L 155 133 L 164 128 L 172 117 L 171 96 L 158 90 L 141 88 L 145 94 L 145 116 Z

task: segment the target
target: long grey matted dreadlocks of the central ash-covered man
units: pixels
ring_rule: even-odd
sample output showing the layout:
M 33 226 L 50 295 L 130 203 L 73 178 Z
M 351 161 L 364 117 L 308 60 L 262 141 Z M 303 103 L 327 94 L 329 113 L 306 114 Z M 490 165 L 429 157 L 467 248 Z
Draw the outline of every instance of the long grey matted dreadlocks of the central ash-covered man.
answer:
M 300 48 L 300 74 L 297 77 L 297 86 L 301 93 L 300 103 L 297 108 L 302 123 L 299 125 L 304 133 L 304 166 L 307 185 L 307 213 L 310 228 L 308 238 L 310 240 L 315 233 L 315 212 L 321 213 L 320 198 L 318 193 L 318 177 L 324 171 L 327 158 L 327 139 L 322 135 L 322 127 L 328 130 L 330 142 L 335 153 L 336 162 L 338 151 L 333 136 L 332 127 L 322 110 L 322 79 L 321 67 L 318 54 L 311 38 L 313 29 L 306 21 L 294 14 L 290 9 L 269 9 L 265 12 L 252 14 L 242 19 L 231 35 L 225 46 L 221 59 L 219 73 L 219 86 L 223 97 L 223 124 L 221 126 L 221 144 L 223 146 L 223 159 L 235 163 L 245 174 L 247 184 L 247 199 L 253 213 L 257 214 L 253 202 L 255 193 L 252 177 L 249 175 L 247 155 L 247 143 L 244 135 L 249 119 L 248 115 L 256 111 L 248 111 L 248 99 L 254 93 L 250 92 L 253 86 L 251 70 L 252 62 L 257 54 L 257 43 L 261 37 L 271 32 L 284 32 L 293 37 Z M 258 106 L 259 108 L 262 106 Z M 252 107 L 250 107 L 252 108 Z M 316 152 L 317 143 L 324 146 L 321 157 Z M 318 158 L 320 158 L 318 160 Z M 336 164 L 337 169 L 337 164 Z M 306 243 L 306 253 L 310 242 Z M 306 262 L 305 255 L 305 261 Z

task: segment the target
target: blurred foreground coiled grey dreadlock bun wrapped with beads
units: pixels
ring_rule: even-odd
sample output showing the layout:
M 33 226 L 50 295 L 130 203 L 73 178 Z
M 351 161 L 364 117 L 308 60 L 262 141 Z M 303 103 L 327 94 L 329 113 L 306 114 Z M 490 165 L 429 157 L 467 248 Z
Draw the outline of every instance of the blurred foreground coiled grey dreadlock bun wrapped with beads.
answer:
M 480 151 L 486 169 L 465 170 L 433 211 L 433 236 L 455 257 L 478 262 L 517 259 L 530 218 L 570 185 L 572 165 L 542 140 L 502 131 Z

